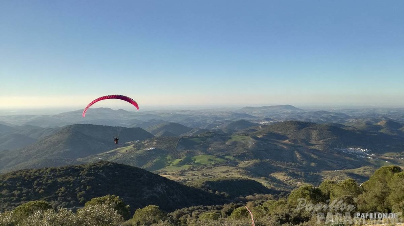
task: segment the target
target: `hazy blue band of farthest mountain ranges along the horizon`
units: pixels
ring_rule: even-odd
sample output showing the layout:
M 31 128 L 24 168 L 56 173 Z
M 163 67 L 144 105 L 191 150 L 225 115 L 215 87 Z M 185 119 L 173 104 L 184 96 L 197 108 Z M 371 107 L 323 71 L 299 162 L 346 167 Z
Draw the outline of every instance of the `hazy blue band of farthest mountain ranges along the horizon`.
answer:
M 72 124 L 96 124 L 147 129 L 162 123 L 179 123 L 189 128 L 213 129 L 237 120 L 246 120 L 253 123 L 262 123 L 265 121 L 303 121 L 345 124 L 351 120 L 364 118 L 379 119 L 378 121 L 392 120 L 404 124 L 404 117 L 402 116 L 404 108 L 301 109 L 292 105 L 274 105 L 233 109 L 166 109 L 136 112 L 122 109 L 90 108 L 85 118 L 81 116 L 81 113 L 82 110 L 76 110 L 57 115 L 0 116 L 0 124 L 11 127 L 14 125 L 32 125 L 43 128 L 55 128 Z M 0 133 L 4 129 L 0 127 Z

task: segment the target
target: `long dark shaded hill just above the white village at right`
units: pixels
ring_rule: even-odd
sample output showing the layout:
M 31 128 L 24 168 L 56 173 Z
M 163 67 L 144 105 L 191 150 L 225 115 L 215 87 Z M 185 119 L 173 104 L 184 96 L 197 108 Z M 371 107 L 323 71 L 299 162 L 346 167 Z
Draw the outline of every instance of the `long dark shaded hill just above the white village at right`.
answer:
M 344 147 L 361 147 L 378 153 L 404 149 L 403 137 L 384 133 L 359 130 L 352 127 L 339 127 L 299 121 L 286 121 L 272 125 L 260 126 L 251 133 L 260 138 L 273 139 L 274 134 L 284 136 L 291 144 L 315 147 L 319 150 Z

